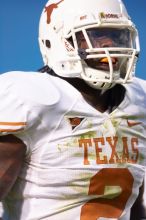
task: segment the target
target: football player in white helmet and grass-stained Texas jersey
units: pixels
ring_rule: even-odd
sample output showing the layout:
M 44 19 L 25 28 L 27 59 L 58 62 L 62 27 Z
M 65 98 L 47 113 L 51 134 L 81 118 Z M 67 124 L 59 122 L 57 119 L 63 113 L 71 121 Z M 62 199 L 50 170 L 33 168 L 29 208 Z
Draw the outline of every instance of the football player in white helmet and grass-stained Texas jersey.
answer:
M 39 44 L 40 72 L 0 76 L 2 219 L 145 219 L 146 82 L 124 4 L 49 0 Z

